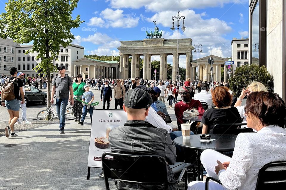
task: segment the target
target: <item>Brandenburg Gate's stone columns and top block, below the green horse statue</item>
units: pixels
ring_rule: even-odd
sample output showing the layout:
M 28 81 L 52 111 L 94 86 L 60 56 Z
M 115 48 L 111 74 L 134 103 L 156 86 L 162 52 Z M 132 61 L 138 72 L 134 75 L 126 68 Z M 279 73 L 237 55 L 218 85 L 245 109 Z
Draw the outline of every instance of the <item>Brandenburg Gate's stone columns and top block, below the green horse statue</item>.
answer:
M 143 59 L 143 79 L 151 79 L 151 56 L 160 55 L 160 75 L 159 79 L 167 79 L 167 56 L 173 56 L 173 71 L 172 80 L 176 80 L 177 72 L 177 39 L 143 39 L 135 41 L 120 41 L 121 45 L 119 50 L 120 65 L 119 65 L 119 78 L 129 78 L 128 76 L 128 57 L 131 59 L 131 78 L 139 77 L 139 57 L 144 56 Z M 186 78 L 192 78 L 192 39 L 179 39 L 179 56 L 186 55 Z M 163 71 L 163 72 L 162 72 Z M 179 73 L 180 74 L 180 73 Z M 194 79 L 193 79 L 194 80 Z

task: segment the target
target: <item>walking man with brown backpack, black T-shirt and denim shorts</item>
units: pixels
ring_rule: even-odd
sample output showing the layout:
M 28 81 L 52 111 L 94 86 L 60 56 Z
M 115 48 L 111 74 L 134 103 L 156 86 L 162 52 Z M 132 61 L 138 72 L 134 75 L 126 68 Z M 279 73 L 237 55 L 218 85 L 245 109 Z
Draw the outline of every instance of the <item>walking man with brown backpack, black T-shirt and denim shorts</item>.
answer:
M 8 113 L 10 115 L 9 125 L 5 127 L 5 135 L 7 138 L 10 136 L 18 136 L 14 131 L 14 124 L 19 118 L 20 104 L 18 100 L 22 98 L 21 103 L 24 103 L 24 92 L 22 88 L 24 83 L 22 80 L 17 79 L 17 73 L 17 68 L 12 67 L 10 69 L 11 76 L 5 80 L 1 90 L 1 105 L 7 107 Z M 19 96 L 19 92 L 21 96 Z

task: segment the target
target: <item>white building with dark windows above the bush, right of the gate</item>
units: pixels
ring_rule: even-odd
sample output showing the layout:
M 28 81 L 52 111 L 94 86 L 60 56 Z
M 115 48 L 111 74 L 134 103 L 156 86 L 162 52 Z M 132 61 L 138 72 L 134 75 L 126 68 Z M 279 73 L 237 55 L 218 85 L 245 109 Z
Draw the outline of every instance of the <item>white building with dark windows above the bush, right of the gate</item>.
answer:
M 233 38 L 231 40 L 231 50 L 232 50 L 232 72 L 234 73 L 237 67 L 249 64 L 249 47 L 248 38 Z

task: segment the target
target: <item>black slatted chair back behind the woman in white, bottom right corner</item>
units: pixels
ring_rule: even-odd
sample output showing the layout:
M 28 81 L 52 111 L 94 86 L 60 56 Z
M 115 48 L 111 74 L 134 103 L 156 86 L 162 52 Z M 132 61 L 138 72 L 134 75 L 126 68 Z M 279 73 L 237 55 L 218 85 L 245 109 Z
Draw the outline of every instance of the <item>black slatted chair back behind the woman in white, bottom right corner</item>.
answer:
M 265 164 L 259 172 L 255 190 L 286 189 L 286 161 Z

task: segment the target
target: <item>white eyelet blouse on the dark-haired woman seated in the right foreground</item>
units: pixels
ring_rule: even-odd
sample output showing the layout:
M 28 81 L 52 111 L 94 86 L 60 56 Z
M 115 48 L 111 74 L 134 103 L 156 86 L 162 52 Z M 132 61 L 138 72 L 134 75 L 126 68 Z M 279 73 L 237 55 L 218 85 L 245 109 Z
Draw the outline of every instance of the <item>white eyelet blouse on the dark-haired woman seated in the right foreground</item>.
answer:
M 267 126 L 257 133 L 240 133 L 229 167 L 220 170 L 219 179 L 231 190 L 253 190 L 259 170 L 269 162 L 286 160 L 286 131 Z

